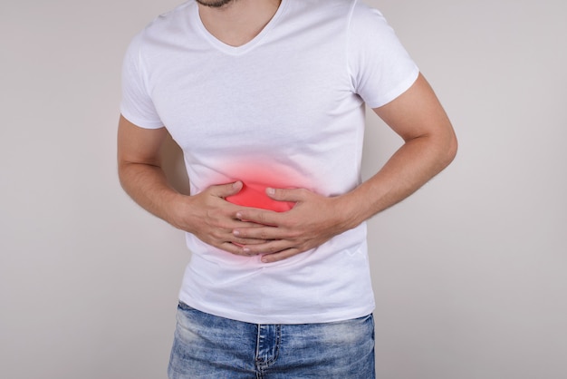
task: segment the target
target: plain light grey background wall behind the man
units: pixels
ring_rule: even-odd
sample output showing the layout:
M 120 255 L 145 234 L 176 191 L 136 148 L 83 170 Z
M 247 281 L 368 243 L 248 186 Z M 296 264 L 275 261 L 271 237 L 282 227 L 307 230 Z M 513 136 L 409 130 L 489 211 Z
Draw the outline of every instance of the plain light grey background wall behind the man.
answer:
M 178 3 L 0 5 L 0 377 L 165 377 L 189 253 L 120 190 L 115 134 L 124 49 Z M 369 3 L 460 141 L 370 220 L 379 378 L 567 377 L 564 2 Z M 399 143 L 369 114 L 365 176 Z

